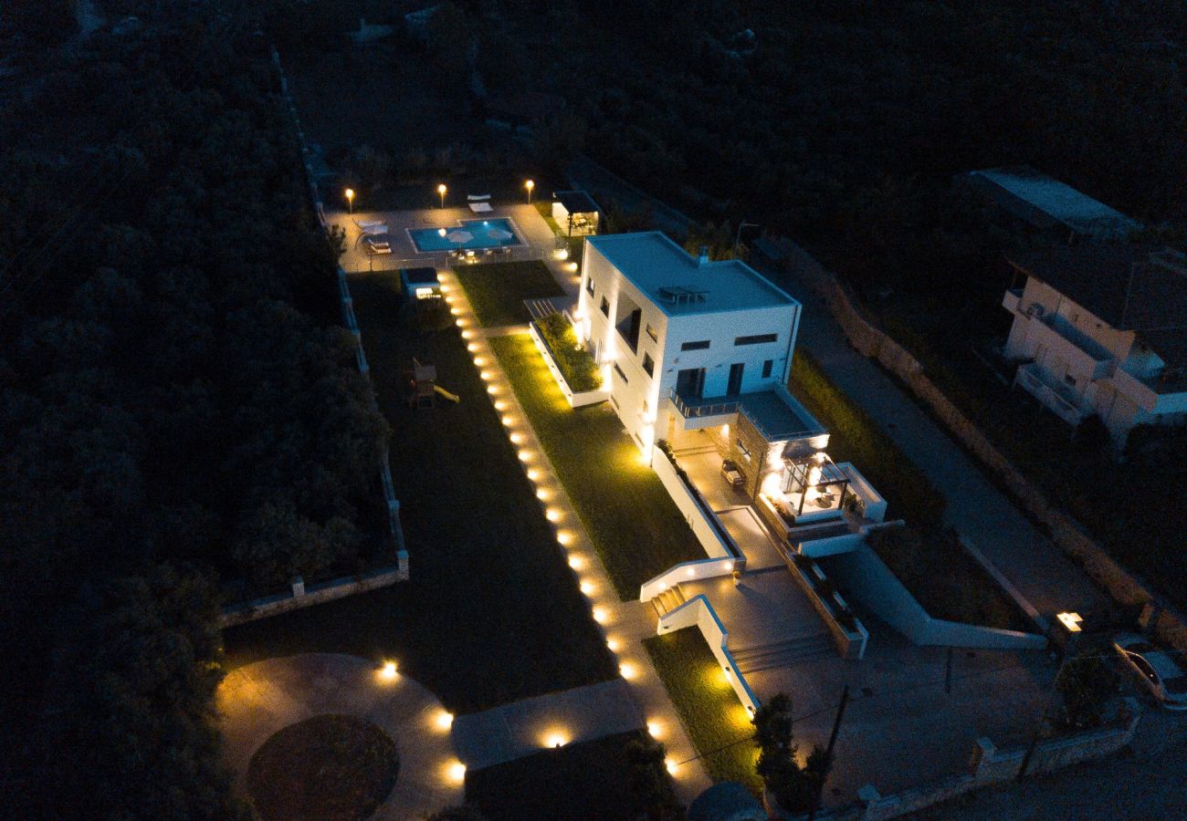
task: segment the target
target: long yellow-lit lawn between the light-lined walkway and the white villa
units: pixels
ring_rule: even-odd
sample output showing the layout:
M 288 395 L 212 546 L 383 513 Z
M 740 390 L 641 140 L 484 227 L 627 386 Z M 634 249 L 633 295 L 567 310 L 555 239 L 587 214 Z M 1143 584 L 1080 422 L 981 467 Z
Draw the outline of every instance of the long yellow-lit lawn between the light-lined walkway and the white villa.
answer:
M 609 405 L 570 408 L 526 333 L 490 346 L 594 540 L 618 598 L 673 565 L 705 558 L 659 477 Z

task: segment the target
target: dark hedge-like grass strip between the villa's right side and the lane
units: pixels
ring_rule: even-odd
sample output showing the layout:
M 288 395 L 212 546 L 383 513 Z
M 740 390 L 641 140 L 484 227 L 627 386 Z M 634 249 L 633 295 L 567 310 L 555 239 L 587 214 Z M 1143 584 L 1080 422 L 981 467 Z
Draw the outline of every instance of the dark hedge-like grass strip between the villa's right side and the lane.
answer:
M 787 386 L 829 431 L 829 454 L 851 462 L 887 499 L 887 514 L 918 527 L 937 527 L 945 501 L 927 476 L 886 435 L 865 411 L 833 384 L 802 348 Z

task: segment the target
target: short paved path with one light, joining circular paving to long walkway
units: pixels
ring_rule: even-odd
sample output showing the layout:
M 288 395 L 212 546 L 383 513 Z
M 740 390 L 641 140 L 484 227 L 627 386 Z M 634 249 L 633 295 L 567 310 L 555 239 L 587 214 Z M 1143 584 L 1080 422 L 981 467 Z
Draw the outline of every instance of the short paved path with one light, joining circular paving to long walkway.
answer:
M 645 726 L 630 685 L 614 679 L 459 715 L 453 721 L 453 747 L 469 769 L 481 770 Z

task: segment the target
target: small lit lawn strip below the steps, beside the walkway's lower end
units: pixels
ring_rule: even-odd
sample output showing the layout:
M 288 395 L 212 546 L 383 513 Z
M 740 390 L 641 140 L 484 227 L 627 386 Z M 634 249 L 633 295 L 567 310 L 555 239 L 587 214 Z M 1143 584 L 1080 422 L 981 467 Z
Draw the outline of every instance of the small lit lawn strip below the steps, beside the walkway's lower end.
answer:
M 643 642 L 692 745 L 710 777 L 737 781 L 762 794 L 755 772 L 758 749 L 749 713 L 725 681 L 721 664 L 696 628 L 685 628 Z

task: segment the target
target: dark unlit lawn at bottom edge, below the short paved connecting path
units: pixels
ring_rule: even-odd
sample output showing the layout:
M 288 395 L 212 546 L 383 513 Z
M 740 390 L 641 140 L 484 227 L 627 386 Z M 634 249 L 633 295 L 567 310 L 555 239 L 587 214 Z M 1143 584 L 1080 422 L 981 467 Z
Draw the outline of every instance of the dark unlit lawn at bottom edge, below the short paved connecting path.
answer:
M 489 821 L 633 819 L 626 749 L 641 731 L 544 750 L 465 774 L 466 803 Z

